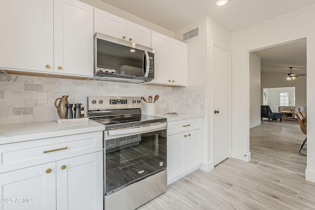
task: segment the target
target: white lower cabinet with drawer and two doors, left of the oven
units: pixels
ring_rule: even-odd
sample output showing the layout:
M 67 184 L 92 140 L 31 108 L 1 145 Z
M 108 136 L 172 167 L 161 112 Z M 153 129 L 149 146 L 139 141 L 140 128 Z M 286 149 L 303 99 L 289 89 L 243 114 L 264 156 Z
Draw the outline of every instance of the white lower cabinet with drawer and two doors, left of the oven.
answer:
M 101 131 L 0 145 L 0 210 L 103 210 L 102 160 Z

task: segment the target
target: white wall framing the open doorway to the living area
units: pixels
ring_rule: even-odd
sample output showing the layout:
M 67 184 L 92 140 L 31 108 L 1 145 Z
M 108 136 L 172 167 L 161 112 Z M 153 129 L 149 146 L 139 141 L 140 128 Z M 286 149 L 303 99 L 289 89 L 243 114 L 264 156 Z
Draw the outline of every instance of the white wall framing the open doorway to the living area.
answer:
M 282 15 L 231 34 L 232 49 L 232 150 L 248 154 L 250 128 L 249 52 L 307 38 L 307 106 L 315 103 L 315 5 Z M 313 76 L 314 75 L 314 76 Z M 242 92 L 243 94 L 239 94 Z M 315 181 L 315 110 L 308 109 L 306 179 Z M 239 123 L 240 119 L 242 123 Z M 302 140 L 301 140 L 302 141 Z M 298 148 L 297 148 L 298 150 Z

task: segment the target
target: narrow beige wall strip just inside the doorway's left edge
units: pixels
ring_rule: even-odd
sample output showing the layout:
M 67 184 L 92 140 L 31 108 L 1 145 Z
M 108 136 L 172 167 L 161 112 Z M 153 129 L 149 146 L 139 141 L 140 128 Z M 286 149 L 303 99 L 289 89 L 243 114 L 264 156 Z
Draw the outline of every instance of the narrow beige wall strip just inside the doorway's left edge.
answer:
M 260 57 L 250 53 L 250 128 L 260 125 Z

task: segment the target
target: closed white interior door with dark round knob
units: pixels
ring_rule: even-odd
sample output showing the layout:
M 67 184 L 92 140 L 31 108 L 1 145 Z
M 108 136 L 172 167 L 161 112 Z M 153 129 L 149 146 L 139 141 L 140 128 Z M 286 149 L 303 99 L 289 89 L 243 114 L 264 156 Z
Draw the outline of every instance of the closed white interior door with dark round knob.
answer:
M 229 52 L 216 46 L 213 51 L 213 163 L 229 157 L 230 73 Z

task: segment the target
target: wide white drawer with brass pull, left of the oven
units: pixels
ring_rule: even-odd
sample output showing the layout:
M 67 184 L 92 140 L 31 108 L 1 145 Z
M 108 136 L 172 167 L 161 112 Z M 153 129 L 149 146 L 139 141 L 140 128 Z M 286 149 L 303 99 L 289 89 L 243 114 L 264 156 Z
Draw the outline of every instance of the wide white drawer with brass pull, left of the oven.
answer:
M 0 173 L 102 149 L 102 131 L 0 145 Z

